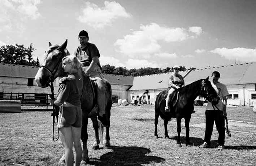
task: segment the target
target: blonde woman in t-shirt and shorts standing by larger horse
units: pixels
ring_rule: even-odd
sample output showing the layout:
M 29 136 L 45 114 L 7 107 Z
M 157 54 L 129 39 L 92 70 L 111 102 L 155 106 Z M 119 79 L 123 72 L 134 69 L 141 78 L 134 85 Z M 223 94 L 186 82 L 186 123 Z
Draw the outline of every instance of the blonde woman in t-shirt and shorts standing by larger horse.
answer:
M 82 159 L 80 143 L 82 127 L 82 109 L 80 98 L 83 90 L 82 63 L 77 57 L 68 55 L 62 59 L 64 72 L 69 73 L 70 79 L 61 81 L 58 88 L 56 106 L 60 106 L 58 130 L 64 145 L 66 166 L 73 166 L 73 144 L 75 148 L 75 166 L 79 166 Z

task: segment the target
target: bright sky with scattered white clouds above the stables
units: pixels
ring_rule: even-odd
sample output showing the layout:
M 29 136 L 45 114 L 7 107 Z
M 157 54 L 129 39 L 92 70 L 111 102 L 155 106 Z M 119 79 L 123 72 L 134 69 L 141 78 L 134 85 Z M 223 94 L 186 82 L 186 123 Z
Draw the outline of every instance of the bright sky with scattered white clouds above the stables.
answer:
M 100 51 L 100 63 L 203 68 L 256 61 L 255 0 L 0 0 L 0 45 L 31 43 L 34 59 L 78 33 Z

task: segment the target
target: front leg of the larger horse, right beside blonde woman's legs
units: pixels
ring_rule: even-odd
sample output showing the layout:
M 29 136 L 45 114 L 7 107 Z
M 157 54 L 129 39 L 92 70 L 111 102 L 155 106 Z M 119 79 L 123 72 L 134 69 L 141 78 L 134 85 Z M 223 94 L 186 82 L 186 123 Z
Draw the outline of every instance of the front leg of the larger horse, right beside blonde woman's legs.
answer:
M 88 140 L 87 125 L 88 125 L 88 115 L 86 113 L 83 113 L 83 126 L 81 131 L 81 139 L 83 142 L 83 153 L 82 153 L 81 164 L 83 165 L 89 162 L 88 149 L 87 149 L 87 140 Z

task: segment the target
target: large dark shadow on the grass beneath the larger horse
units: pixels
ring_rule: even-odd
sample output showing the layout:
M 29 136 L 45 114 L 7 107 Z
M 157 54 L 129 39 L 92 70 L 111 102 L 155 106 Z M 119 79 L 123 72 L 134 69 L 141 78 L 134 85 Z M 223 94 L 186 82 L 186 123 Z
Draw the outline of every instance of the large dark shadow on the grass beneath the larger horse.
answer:
M 89 164 L 95 166 L 142 166 L 152 162 L 161 163 L 165 159 L 156 156 L 148 156 L 151 150 L 143 147 L 118 147 L 111 146 L 113 152 L 103 154 L 100 159 L 91 158 Z

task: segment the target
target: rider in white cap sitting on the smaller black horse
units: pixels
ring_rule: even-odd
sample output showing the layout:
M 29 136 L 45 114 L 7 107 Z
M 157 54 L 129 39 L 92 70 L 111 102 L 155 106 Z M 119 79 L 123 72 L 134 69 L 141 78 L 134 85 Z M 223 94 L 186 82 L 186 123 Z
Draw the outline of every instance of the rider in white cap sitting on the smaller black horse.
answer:
M 170 95 L 175 90 L 178 90 L 182 86 L 184 86 L 185 82 L 183 80 L 183 77 L 179 74 L 179 66 L 175 65 L 173 66 L 174 72 L 170 76 L 168 80 L 168 95 L 166 97 L 166 105 L 165 105 L 165 113 L 170 112 L 170 107 L 168 106 L 168 103 L 170 102 Z

